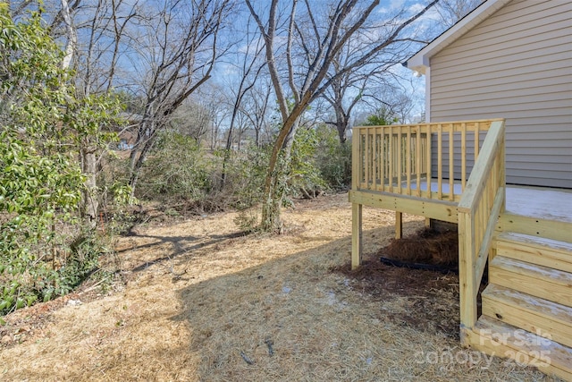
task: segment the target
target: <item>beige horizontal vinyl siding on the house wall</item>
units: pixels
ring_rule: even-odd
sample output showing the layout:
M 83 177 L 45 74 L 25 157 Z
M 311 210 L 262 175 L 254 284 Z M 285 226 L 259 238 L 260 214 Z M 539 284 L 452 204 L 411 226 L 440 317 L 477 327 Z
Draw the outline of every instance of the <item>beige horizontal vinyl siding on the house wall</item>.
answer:
M 572 188 L 572 2 L 513 0 L 434 55 L 430 81 L 432 122 L 507 119 L 508 183 Z

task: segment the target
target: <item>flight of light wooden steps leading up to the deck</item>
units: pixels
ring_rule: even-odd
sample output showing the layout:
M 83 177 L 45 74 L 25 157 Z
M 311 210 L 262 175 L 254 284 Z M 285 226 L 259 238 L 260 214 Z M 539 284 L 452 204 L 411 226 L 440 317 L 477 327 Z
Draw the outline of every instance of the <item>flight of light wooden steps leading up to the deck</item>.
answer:
M 499 233 L 470 346 L 572 380 L 572 243 Z

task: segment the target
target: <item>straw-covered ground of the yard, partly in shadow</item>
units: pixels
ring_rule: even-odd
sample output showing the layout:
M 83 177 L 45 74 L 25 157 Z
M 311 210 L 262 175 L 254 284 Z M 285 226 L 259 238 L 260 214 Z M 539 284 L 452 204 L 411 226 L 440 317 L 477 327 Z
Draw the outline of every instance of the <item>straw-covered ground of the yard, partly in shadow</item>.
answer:
M 243 236 L 235 216 L 139 226 L 117 242 L 128 282 L 113 293 L 6 317 L 0 379 L 551 380 L 459 347 L 457 276 L 376 257 L 351 272 L 347 195 L 286 210 L 281 236 Z M 393 217 L 365 208 L 366 253 Z M 422 225 L 405 216 L 406 233 Z

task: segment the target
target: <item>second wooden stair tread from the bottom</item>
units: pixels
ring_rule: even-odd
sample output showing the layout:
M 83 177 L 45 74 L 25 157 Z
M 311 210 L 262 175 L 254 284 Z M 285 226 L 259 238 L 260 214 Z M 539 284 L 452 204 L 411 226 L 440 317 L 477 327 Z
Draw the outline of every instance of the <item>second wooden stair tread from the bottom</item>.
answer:
M 541 297 L 518 292 L 497 284 L 489 284 L 483 292 L 483 298 L 501 301 L 520 309 L 534 310 L 539 316 L 550 317 L 566 325 L 572 325 L 572 308 Z

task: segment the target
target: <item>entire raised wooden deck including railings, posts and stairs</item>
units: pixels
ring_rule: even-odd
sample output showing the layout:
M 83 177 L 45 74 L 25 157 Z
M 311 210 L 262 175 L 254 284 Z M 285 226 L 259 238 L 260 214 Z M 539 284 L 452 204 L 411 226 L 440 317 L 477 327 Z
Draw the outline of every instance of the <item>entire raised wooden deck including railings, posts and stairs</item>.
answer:
M 398 237 L 404 212 L 458 224 L 461 343 L 572 380 L 572 191 L 505 184 L 502 120 L 355 128 L 352 141 L 352 267 L 363 206 L 396 211 Z

